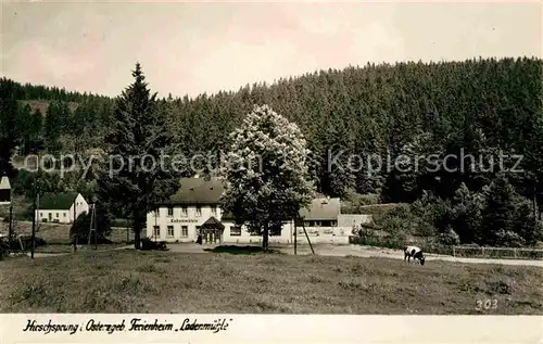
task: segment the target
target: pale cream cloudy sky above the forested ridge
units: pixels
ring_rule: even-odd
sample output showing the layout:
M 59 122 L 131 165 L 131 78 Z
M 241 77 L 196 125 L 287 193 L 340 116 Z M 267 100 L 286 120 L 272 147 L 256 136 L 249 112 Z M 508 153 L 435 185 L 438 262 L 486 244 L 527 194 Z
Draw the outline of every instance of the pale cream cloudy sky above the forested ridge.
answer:
M 367 62 L 542 58 L 542 4 L 1 3 L 0 74 L 117 95 L 140 62 L 160 97 L 197 97 Z

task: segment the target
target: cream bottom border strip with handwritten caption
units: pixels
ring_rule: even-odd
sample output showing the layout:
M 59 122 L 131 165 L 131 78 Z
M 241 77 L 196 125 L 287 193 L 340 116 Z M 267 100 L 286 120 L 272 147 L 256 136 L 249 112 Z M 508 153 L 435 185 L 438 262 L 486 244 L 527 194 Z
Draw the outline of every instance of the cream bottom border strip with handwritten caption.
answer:
M 24 332 L 28 320 L 77 323 L 90 319 L 129 327 L 132 318 L 148 322 L 180 324 L 226 319 L 224 331 L 127 331 L 77 330 L 49 333 Z M 222 320 L 220 320 L 222 321 Z M 541 344 L 543 316 L 301 316 L 301 315 L 160 315 L 160 314 L 13 314 L 0 315 L 0 343 L 413 343 L 413 344 Z

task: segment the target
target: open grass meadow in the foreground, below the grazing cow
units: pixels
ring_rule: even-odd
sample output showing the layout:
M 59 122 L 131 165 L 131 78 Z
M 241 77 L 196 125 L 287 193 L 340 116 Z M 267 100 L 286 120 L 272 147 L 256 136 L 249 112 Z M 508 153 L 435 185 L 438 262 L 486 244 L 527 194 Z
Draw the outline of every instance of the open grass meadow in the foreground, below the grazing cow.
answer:
M 445 262 L 81 252 L 0 262 L 0 311 L 542 315 L 542 280 L 541 268 Z

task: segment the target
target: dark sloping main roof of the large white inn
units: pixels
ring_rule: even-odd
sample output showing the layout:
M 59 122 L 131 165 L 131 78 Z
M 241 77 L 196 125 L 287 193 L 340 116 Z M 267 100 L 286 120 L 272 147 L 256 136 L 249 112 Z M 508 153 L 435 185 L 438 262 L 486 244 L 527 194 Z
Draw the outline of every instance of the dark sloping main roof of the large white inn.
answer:
M 218 204 L 224 186 L 218 179 L 182 178 L 180 188 L 169 198 L 166 204 Z

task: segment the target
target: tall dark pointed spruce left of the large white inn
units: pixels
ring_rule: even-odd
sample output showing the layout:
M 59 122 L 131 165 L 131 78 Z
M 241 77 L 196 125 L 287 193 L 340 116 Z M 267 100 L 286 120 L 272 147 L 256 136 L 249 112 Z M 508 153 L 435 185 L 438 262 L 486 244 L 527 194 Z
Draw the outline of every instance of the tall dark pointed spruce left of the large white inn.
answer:
M 134 226 L 135 247 L 139 250 L 147 214 L 176 191 L 178 180 L 168 165 L 159 165 L 161 157 L 169 155 L 173 149 L 173 136 L 139 63 L 132 77 L 134 84 L 116 100 L 114 122 L 106 133 L 109 156 L 99 171 L 97 195 L 98 202 L 109 204 L 109 208 L 125 209 L 123 213 Z

